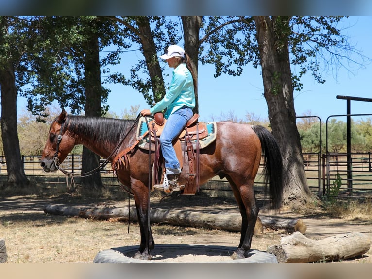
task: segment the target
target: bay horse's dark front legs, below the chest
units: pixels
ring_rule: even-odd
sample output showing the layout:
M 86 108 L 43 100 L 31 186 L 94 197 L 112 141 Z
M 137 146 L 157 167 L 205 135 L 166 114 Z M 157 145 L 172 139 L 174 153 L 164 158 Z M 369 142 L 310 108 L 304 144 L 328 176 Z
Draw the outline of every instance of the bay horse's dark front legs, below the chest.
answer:
M 133 256 L 140 260 L 151 260 L 150 251 L 154 248 L 154 240 L 149 222 L 149 189 L 139 180 L 132 179 L 131 188 L 135 198 L 135 208 L 141 233 L 138 252 Z

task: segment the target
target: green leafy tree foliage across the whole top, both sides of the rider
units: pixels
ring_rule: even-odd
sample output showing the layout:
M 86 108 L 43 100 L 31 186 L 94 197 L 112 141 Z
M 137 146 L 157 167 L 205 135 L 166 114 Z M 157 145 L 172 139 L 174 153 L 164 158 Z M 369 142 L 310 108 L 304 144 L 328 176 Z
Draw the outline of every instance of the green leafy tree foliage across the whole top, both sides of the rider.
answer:
M 159 75 L 149 73 L 149 67 L 159 63 L 156 55 L 146 60 L 139 57 L 138 63 L 131 66 L 129 77 L 119 72 L 111 72 L 108 66 L 119 64 L 120 53 L 130 48 L 144 52 L 142 43 L 145 36 L 153 40 L 155 54 L 169 44 L 179 43 L 181 40 L 180 21 L 177 18 L 173 20 L 172 17 L 1 18 L 12 26 L 5 44 L 0 46 L 1 57 L 14 57 L 21 61 L 17 67 L 17 87 L 20 89 L 20 95 L 28 99 L 28 108 L 41 116 L 45 105 L 53 100 L 58 100 L 61 107 L 70 107 L 74 114 L 79 114 L 84 109 L 84 45 L 92 32 L 99 35 L 100 50 L 107 46 L 116 48 L 114 51 L 105 52 L 106 56 L 101 57 L 101 71 L 106 77 L 102 84 L 116 82 L 130 85 L 141 92 L 149 105 L 164 95 L 163 79 Z M 347 40 L 337 28 L 337 23 L 344 18 L 271 17 L 276 34 L 276 49 L 283 52 L 288 44 L 291 64 L 300 65 L 299 72 L 292 74 L 293 88 L 302 88 L 300 79 L 307 71 L 310 71 L 318 82 L 324 82 L 320 75 L 324 69 L 319 69 L 319 57 L 324 59 L 325 65 L 330 65 L 329 61 L 337 63 L 342 56 L 350 57 L 350 53 L 357 53 L 347 44 Z M 151 38 L 143 34 L 142 26 L 147 22 L 151 26 Z M 254 17 L 203 17 L 201 31 L 203 34 L 200 38 L 200 61 L 202 64 L 214 64 L 216 77 L 222 73 L 240 75 L 243 67 L 249 63 L 259 67 L 261 58 Z M 17 52 L 10 53 L 10 49 Z M 329 55 L 335 55 L 336 59 L 328 59 Z M 358 63 L 357 59 L 353 59 L 353 62 Z M 273 81 L 272 93 L 278 94 L 281 89 L 280 73 L 274 73 Z M 104 104 L 109 91 L 104 87 L 101 90 L 101 101 Z M 108 110 L 109 107 L 102 106 L 102 113 Z

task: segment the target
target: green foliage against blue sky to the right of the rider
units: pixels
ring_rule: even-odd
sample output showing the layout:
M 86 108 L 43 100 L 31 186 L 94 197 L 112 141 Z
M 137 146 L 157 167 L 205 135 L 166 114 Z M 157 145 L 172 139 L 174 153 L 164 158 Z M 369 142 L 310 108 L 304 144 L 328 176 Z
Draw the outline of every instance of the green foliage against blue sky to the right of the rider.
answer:
M 330 70 L 336 75 L 343 67 L 360 67 L 365 60 L 341 34 L 338 24 L 345 21 L 345 16 L 271 16 L 275 33 L 275 47 L 278 54 L 289 52 L 292 72 L 292 87 L 302 90 L 301 78 L 310 72 L 318 83 L 324 83 L 323 72 Z M 260 47 L 256 40 L 254 17 L 211 16 L 205 19 L 206 36 L 203 41 L 209 44 L 201 55 L 203 64 L 215 65 L 215 77 L 222 73 L 240 75 L 243 67 L 252 63 L 260 66 Z M 223 26 L 220 28 L 219 26 Z M 349 63 L 343 64 L 347 59 Z M 320 67 L 324 65 L 324 67 Z M 296 67 L 298 66 L 298 67 Z M 349 70 L 349 69 L 347 69 Z M 272 93 L 275 94 L 276 90 Z

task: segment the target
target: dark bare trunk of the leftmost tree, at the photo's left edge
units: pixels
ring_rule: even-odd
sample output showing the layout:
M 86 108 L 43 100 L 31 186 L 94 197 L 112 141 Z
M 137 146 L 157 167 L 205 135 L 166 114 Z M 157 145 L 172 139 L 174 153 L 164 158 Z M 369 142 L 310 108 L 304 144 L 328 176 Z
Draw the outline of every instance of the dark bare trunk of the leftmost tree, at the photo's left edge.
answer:
M 1 137 L 4 146 L 8 180 L 6 187 L 25 188 L 29 185 L 21 158 L 17 130 L 17 88 L 14 67 L 9 62 L 0 68 Z

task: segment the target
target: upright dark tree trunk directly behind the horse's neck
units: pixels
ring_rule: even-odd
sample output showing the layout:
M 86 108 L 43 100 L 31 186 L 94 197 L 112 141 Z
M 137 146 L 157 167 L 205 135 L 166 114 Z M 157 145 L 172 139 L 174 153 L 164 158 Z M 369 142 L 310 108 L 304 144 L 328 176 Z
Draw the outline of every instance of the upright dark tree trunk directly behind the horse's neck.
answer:
M 99 51 L 98 35 L 93 31 L 85 45 L 85 116 L 101 117 L 102 86 Z M 82 173 L 94 170 L 99 165 L 100 157 L 84 146 Z M 82 193 L 99 196 L 102 188 L 99 171 L 82 178 L 80 189 Z

